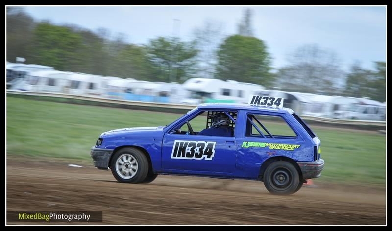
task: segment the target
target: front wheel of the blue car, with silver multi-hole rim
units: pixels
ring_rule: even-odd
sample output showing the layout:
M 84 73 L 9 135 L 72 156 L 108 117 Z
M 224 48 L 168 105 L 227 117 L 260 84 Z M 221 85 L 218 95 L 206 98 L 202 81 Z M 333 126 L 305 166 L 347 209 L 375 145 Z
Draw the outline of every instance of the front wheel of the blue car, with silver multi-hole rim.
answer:
M 110 163 L 113 176 L 122 183 L 141 183 L 148 174 L 148 160 L 144 153 L 136 148 L 118 150 Z

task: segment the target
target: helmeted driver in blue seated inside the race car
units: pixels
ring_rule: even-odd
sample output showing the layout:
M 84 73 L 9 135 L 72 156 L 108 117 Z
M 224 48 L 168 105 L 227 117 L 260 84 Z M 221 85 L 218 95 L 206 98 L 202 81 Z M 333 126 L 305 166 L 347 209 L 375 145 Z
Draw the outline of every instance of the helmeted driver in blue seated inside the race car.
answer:
M 216 113 L 214 115 L 210 115 L 208 118 L 211 119 L 211 126 L 201 130 L 198 135 L 221 137 L 233 136 L 233 128 L 229 126 L 230 118 L 227 117 L 225 113 Z

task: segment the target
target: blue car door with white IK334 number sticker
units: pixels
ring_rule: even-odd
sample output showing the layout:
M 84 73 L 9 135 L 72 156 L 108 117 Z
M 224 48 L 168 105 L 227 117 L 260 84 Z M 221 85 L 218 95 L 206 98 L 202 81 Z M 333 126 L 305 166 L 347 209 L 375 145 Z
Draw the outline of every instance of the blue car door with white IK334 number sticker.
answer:
M 197 112 L 196 112 L 197 114 Z M 190 115 L 192 118 L 192 115 Z M 180 121 L 166 132 L 162 143 L 162 168 L 173 173 L 230 175 L 236 166 L 234 137 L 176 134 Z M 190 119 L 189 119 L 190 120 Z

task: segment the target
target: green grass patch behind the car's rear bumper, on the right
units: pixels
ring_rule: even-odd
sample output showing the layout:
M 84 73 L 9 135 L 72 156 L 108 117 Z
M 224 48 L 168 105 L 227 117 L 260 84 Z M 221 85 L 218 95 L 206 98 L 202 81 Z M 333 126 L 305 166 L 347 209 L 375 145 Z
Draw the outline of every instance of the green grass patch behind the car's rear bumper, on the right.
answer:
M 385 184 L 385 135 L 314 128 L 325 170 L 320 180 Z

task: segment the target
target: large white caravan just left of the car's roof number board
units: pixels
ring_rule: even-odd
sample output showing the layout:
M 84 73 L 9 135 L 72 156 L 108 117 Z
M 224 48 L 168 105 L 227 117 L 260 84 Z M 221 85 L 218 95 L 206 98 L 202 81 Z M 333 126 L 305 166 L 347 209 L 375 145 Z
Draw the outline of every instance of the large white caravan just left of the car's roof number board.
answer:
M 209 102 L 247 103 L 249 96 L 265 89 L 252 83 L 242 83 L 234 80 L 191 78 L 182 85 L 190 91 L 187 99 L 182 103 L 199 104 Z

